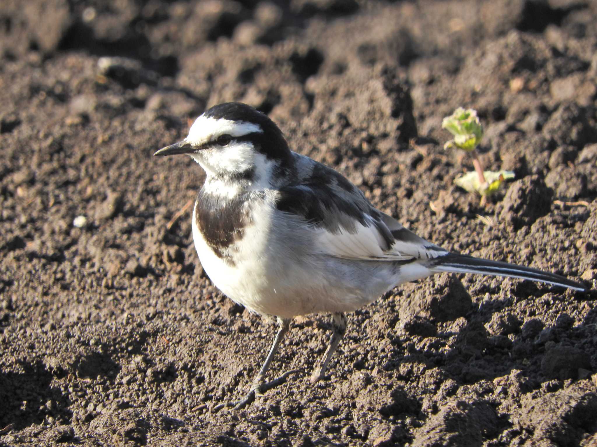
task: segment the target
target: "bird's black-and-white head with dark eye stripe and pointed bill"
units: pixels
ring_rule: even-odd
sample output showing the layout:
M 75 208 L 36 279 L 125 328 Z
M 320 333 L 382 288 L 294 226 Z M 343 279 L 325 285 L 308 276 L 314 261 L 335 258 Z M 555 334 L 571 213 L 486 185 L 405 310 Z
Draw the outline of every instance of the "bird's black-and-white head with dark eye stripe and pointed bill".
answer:
M 187 154 L 201 164 L 208 178 L 264 178 L 287 167 L 290 150 L 284 135 L 267 117 L 242 103 L 214 105 L 199 116 L 183 141 L 155 156 Z

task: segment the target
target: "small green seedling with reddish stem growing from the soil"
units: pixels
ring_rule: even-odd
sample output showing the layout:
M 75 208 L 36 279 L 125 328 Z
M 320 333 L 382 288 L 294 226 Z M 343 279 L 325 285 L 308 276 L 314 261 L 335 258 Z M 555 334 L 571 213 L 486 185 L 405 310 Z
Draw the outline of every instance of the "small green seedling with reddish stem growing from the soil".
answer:
M 476 110 L 472 108 L 464 110 L 464 108 L 458 107 L 451 116 L 442 120 L 442 128 L 454 135 L 454 139 L 444 144 L 444 149 L 456 147 L 467 151 L 473 157 L 473 166 L 475 166 L 475 172 L 467 172 L 455 179 L 454 183 L 469 193 L 481 194 L 481 204 L 485 204 L 487 196 L 494 194 L 502 182 L 514 178 L 512 171 L 483 170 L 475 151 L 483 138 L 483 126 Z

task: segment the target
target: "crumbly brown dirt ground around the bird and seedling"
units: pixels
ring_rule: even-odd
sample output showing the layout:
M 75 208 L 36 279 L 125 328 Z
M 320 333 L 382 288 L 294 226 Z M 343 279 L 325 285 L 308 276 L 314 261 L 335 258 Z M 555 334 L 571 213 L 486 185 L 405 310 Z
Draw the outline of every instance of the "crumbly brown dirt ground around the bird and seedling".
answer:
M 2 0 L 0 445 L 597 445 L 595 23 L 591 0 Z M 306 373 L 216 411 L 275 327 L 201 268 L 201 169 L 152 153 L 232 100 L 434 243 L 593 291 L 403 285 L 315 385 L 330 319 L 297 318 L 271 374 Z M 442 148 L 458 106 L 516 172 L 485 207 Z

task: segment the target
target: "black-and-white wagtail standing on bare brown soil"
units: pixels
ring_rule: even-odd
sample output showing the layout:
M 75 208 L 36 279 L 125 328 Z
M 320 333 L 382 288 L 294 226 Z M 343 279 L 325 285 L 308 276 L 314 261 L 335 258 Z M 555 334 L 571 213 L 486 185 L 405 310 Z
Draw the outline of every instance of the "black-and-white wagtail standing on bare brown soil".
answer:
M 248 393 L 220 408 L 243 408 L 297 373 L 266 381 L 296 316 L 332 316 L 330 341 L 311 376 L 315 382 L 324 378 L 346 333 L 346 313 L 402 283 L 451 272 L 588 290 L 560 275 L 450 252 L 424 240 L 377 210 L 336 170 L 291 151 L 279 127 L 247 104 L 208 108 L 186 138 L 154 156 L 175 154 L 190 156 L 205 171 L 192 215 L 204 271 L 234 302 L 278 323 Z

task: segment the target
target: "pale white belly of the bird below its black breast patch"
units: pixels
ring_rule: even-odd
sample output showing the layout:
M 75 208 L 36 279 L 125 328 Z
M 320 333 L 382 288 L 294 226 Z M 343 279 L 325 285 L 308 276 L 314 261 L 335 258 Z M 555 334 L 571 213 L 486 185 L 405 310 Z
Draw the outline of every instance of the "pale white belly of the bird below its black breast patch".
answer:
M 208 246 L 193 210 L 193 240 L 201 265 L 217 288 L 250 311 L 284 318 L 353 311 L 396 284 L 389 263 L 318 255 L 314 241 L 301 238 L 288 222 L 278 219 L 272 224 L 274 210 L 269 204 L 258 208 L 242 239 L 229 247 L 233 262 Z

